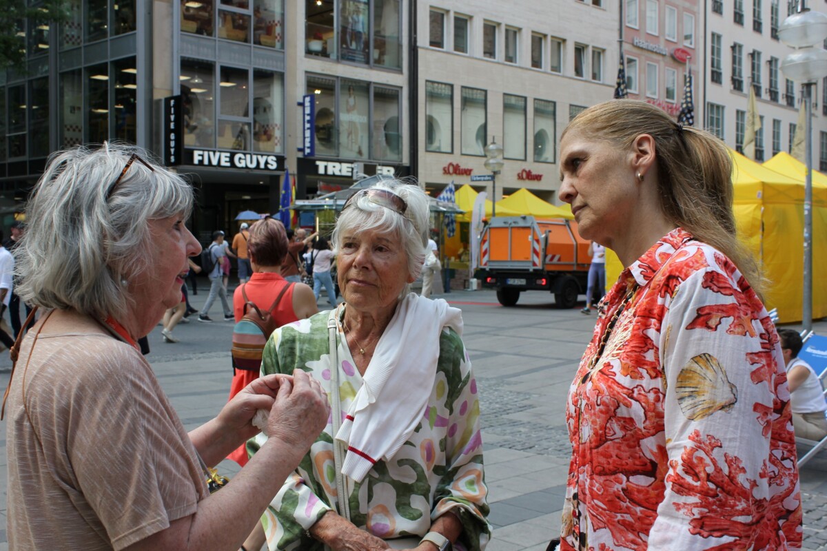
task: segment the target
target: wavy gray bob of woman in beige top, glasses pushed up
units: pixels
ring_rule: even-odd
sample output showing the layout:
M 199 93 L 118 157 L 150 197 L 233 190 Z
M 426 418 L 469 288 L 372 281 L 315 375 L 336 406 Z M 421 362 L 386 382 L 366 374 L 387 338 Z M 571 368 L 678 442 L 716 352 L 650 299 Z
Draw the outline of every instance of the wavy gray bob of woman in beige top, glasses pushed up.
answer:
M 104 143 L 56 152 L 26 205 L 26 234 L 14 252 L 22 282 L 15 291 L 44 308 L 126 316 L 134 306 L 127 283 L 155 269 L 147 260 L 148 222 L 187 219 L 192 208 L 189 183 L 141 148 Z

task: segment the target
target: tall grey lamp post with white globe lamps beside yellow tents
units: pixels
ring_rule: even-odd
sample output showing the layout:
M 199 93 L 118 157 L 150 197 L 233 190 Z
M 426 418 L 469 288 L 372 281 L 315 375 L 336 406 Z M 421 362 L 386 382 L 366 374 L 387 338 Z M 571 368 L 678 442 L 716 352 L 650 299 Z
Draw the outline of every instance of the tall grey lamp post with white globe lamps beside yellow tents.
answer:
M 811 12 L 805 0 L 798 0 L 798 9 L 787 17 L 778 29 L 778 38 L 796 51 L 782 61 L 786 78 L 801 83 L 801 99 L 805 111 L 805 165 L 804 179 L 804 287 L 801 305 L 801 324 L 809 333 L 813 325 L 813 143 L 812 111 L 813 86 L 827 76 L 827 51 L 817 45 L 827 38 L 827 15 Z

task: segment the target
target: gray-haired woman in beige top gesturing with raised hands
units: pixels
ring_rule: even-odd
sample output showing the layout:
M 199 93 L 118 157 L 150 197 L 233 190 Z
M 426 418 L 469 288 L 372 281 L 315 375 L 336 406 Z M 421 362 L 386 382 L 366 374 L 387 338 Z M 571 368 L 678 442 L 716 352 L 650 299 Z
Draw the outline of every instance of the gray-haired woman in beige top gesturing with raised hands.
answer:
M 301 371 L 184 430 L 136 340 L 180 301 L 192 207 L 188 183 L 123 145 L 55 154 L 37 183 L 15 251 L 18 293 L 45 314 L 7 388 L 12 549 L 238 549 L 321 430 L 327 401 Z M 207 465 L 259 409 L 268 445 L 210 494 Z

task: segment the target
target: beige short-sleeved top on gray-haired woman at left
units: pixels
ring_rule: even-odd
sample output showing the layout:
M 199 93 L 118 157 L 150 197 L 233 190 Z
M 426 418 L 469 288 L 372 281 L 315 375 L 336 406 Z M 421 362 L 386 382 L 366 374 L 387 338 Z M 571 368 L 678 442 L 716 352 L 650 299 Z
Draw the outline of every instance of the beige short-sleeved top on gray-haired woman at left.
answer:
M 35 331 L 21 347 L 7 403 L 11 549 L 123 549 L 208 496 L 149 363 L 88 318 L 78 325 L 55 335 L 47 324 L 27 369 Z

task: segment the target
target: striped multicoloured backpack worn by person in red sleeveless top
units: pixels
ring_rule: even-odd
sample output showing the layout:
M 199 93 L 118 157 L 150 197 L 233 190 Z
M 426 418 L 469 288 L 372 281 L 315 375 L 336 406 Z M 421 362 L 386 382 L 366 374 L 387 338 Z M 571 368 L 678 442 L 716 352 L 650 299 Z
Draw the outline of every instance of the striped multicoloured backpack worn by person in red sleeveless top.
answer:
M 241 286 L 241 296 L 244 297 L 244 316 L 232 328 L 232 368 L 244 371 L 261 371 L 261 354 L 264 352 L 264 345 L 270 339 L 270 335 L 279 326 L 279 322 L 273 317 L 273 310 L 278 306 L 281 297 L 293 283 L 285 285 L 275 301 L 270 305 L 269 310 L 261 311 L 255 303 L 250 302 L 247 293 L 244 292 L 246 283 Z M 235 373 L 235 372 L 233 372 Z

